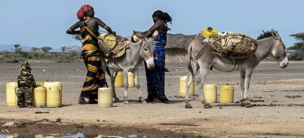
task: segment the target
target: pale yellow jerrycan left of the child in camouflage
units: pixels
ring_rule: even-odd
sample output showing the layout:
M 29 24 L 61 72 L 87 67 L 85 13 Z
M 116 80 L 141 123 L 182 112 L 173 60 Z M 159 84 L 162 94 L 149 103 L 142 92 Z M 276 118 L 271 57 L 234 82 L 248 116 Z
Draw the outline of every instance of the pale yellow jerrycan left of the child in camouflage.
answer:
M 6 85 L 6 100 L 8 107 L 17 107 L 17 82 L 8 82 Z

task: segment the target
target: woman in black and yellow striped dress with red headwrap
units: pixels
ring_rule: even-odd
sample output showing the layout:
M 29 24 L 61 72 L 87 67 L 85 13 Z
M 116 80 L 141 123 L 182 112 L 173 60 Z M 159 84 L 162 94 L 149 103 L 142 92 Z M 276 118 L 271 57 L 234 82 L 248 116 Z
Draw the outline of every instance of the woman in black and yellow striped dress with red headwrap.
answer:
M 116 33 L 100 19 L 94 17 L 94 14 L 93 7 L 83 5 L 77 13 L 80 21 L 66 31 L 68 34 L 81 34 L 83 42 L 81 52 L 88 72 L 78 98 L 80 104 L 97 103 L 95 99 L 98 99 L 98 88 L 108 87 L 100 62 L 101 51 L 97 40 L 99 26 L 116 36 Z M 77 28 L 80 30 L 75 30 Z M 89 102 L 84 98 L 88 98 Z

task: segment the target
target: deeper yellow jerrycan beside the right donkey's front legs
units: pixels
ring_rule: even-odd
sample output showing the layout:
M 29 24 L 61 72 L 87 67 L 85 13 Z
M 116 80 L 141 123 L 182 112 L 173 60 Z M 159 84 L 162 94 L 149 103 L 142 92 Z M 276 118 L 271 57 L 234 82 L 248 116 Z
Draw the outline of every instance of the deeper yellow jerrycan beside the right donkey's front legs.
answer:
M 234 98 L 234 86 L 222 85 L 220 87 L 220 103 L 232 103 Z

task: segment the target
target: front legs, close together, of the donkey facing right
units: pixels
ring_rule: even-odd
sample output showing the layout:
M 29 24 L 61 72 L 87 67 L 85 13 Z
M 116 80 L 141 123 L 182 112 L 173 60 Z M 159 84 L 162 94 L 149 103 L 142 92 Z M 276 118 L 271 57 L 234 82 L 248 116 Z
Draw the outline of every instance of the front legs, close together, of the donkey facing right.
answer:
M 252 75 L 253 70 L 247 70 L 245 72 L 245 81 L 244 81 L 244 96 L 243 96 L 243 101 L 241 103 L 241 106 L 245 106 L 245 107 L 252 107 L 252 105 L 250 104 L 250 100 L 248 99 L 248 89 L 249 89 L 249 84 L 250 84 L 250 78 Z

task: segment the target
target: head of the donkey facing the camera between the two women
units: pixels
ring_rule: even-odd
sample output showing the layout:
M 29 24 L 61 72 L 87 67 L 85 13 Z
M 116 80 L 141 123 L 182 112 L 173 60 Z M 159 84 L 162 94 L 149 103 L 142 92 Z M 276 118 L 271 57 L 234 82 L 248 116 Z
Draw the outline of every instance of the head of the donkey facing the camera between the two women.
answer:
M 147 63 L 147 68 L 154 68 L 154 45 L 153 40 L 157 37 L 158 32 L 155 31 L 152 37 L 147 38 L 141 32 L 134 31 L 135 36 L 141 40 L 140 56 Z

